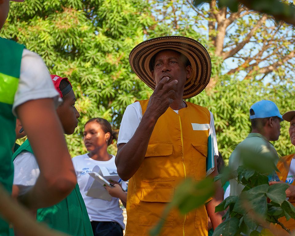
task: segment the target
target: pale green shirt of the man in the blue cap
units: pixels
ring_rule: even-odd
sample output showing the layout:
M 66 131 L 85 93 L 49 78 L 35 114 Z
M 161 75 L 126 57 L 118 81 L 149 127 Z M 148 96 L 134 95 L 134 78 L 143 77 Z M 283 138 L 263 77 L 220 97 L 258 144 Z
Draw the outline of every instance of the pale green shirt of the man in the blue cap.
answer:
M 250 133 L 245 140 L 238 144 L 230 155 L 229 167 L 232 170 L 237 170 L 239 166 L 243 165 L 240 155 L 242 150 L 251 150 L 251 153 L 266 155 L 274 164 L 279 159 L 276 149 L 263 135 L 260 133 Z M 230 196 L 241 194 L 243 189 L 244 185 L 238 184 L 235 179 L 230 179 Z

